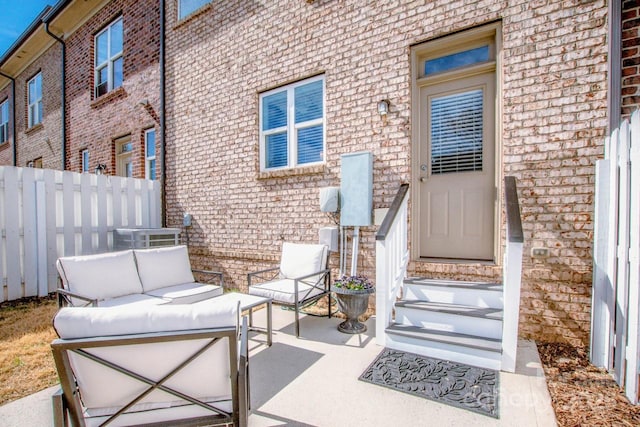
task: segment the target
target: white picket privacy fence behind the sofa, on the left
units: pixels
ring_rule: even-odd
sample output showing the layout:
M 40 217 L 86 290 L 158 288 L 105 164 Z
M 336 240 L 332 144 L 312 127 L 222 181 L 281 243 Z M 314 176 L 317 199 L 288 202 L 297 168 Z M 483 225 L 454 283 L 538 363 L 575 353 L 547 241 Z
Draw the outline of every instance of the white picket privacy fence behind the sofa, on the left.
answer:
M 157 181 L 0 166 L 0 302 L 55 291 L 59 256 L 107 252 L 160 211 Z

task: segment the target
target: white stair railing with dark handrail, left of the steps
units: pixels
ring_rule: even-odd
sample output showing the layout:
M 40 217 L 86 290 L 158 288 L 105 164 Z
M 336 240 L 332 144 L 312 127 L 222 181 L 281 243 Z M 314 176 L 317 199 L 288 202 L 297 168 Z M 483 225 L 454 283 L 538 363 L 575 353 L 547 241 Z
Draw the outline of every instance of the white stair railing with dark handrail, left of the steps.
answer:
M 376 234 L 376 344 L 381 346 L 409 262 L 408 199 L 409 184 L 402 184 Z

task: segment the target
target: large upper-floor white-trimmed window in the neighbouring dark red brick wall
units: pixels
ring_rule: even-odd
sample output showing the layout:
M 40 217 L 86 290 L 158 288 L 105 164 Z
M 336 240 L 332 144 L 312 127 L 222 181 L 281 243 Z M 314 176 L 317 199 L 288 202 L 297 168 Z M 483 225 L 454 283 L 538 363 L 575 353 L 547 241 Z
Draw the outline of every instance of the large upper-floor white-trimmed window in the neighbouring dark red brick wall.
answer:
M 122 17 L 95 36 L 95 97 L 122 86 Z

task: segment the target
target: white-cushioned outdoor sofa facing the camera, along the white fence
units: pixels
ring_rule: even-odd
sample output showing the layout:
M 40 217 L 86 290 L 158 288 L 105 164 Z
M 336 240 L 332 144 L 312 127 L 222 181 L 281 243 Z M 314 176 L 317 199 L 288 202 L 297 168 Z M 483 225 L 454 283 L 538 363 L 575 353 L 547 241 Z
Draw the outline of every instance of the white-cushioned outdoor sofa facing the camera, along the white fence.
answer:
M 222 273 L 192 270 L 186 246 L 61 257 L 56 266 L 61 307 L 192 304 L 223 293 Z M 199 283 L 193 272 L 215 283 Z

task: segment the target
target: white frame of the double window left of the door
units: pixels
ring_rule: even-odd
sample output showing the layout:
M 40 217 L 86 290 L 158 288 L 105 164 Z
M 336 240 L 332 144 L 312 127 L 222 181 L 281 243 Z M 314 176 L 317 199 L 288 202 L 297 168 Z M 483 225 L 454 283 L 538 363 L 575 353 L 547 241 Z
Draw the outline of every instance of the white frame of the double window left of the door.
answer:
M 322 117 L 319 119 L 309 120 L 302 123 L 295 123 L 295 89 L 299 86 L 304 86 L 309 83 L 313 83 L 316 81 L 322 81 Z M 287 92 L 287 125 L 282 126 L 275 129 L 263 130 L 262 129 L 262 100 L 263 98 L 273 95 L 279 92 Z M 268 172 L 275 170 L 283 170 L 283 169 L 295 169 L 300 167 L 308 167 L 313 165 L 324 164 L 326 159 L 327 152 L 327 126 L 326 126 L 326 109 L 327 109 L 327 91 L 326 91 L 326 82 L 324 74 L 319 76 L 311 77 L 305 80 L 300 80 L 295 83 L 291 83 L 286 86 L 281 86 L 276 89 L 272 89 L 270 91 L 264 92 L 260 94 L 259 104 L 260 104 L 260 117 L 259 117 L 259 126 L 260 126 L 260 171 Z M 313 163 L 303 163 L 298 164 L 298 130 L 304 129 L 307 127 L 313 127 L 322 125 L 322 160 L 319 162 Z M 287 131 L 287 165 L 278 167 L 278 168 L 266 168 L 267 162 L 267 153 L 266 153 L 266 140 L 269 135 L 281 133 L 283 130 Z

